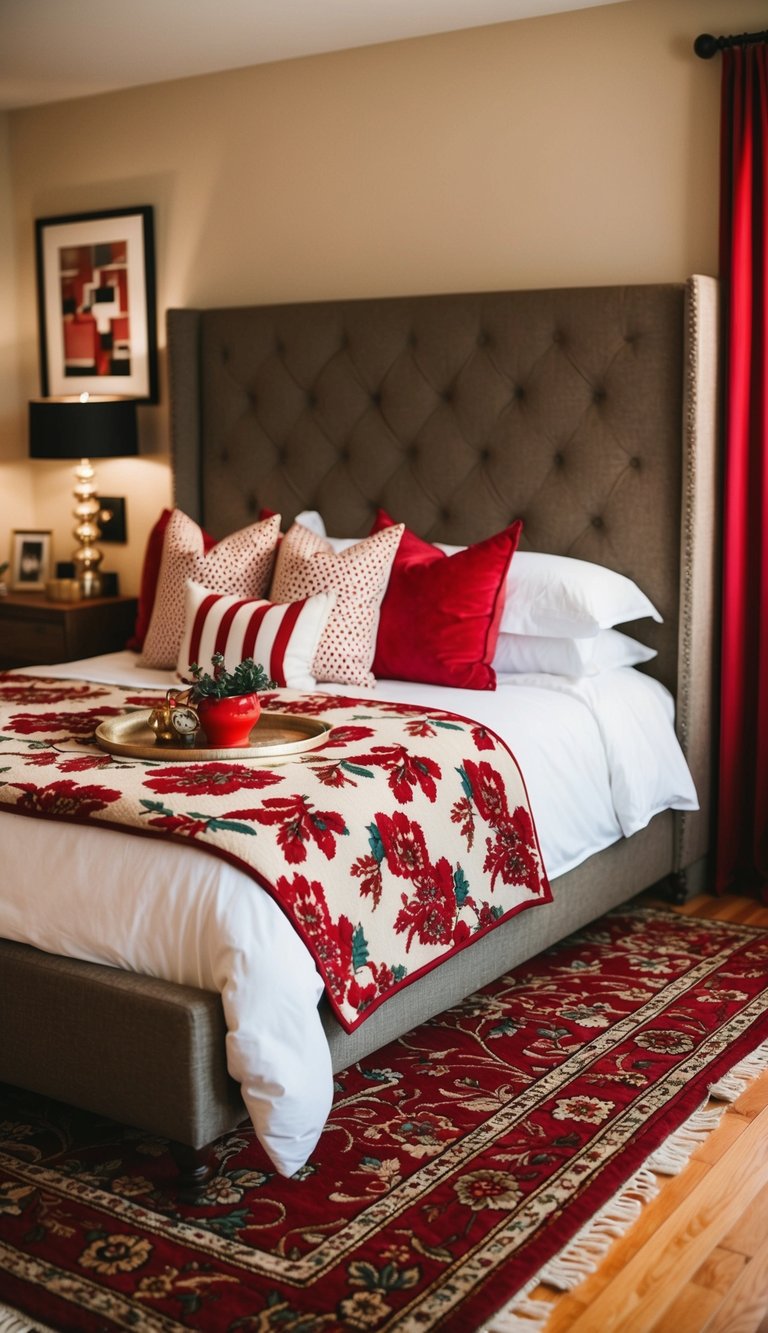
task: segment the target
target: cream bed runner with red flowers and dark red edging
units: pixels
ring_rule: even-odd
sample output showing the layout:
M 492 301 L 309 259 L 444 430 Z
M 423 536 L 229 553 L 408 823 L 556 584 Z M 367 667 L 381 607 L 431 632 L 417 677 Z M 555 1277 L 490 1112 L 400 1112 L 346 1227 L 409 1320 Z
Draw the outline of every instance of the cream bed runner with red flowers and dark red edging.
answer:
M 0 808 L 188 841 L 247 870 L 316 960 L 343 1026 L 524 908 L 551 901 L 515 757 L 441 710 L 279 690 L 324 716 L 275 766 L 104 753 L 99 722 L 155 693 L 0 674 Z

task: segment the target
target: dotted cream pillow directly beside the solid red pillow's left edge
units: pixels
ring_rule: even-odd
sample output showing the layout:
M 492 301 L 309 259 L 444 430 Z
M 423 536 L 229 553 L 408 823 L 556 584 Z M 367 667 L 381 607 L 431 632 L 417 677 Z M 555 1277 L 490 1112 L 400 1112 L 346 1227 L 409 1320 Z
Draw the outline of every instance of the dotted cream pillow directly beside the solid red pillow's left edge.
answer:
M 297 601 L 328 591 L 336 593 L 336 605 L 315 653 L 313 673 L 319 681 L 376 684 L 371 665 L 379 608 L 401 536 L 403 524 L 395 524 L 340 553 L 300 523 L 283 537 L 271 601 Z

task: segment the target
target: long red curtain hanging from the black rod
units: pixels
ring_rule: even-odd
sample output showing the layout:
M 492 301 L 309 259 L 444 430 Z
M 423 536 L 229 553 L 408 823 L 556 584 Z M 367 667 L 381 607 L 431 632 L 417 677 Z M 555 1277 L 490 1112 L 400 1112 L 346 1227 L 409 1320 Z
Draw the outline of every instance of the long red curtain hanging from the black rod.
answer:
M 768 894 L 768 45 L 723 52 L 723 656 L 716 888 Z

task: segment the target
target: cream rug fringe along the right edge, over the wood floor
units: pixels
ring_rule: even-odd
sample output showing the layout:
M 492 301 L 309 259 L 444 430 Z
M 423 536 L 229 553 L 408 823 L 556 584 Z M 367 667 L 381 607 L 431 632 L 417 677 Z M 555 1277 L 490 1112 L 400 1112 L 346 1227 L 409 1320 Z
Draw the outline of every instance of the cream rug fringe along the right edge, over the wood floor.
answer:
M 728 1109 L 751 1082 L 768 1070 L 768 1041 L 733 1065 L 727 1074 L 712 1084 L 707 1101 L 688 1117 L 680 1129 L 652 1153 L 645 1164 L 627 1181 L 613 1198 L 589 1218 L 572 1241 L 545 1264 L 535 1278 L 517 1292 L 503 1310 L 489 1320 L 479 1333 L 544 1333 L 552 1302 L 537 1300 L 531 1293 L 537 1286 L 556 1292 L 572 1292 L 591 1273 L 595 1273 L 613 1242 L 637 1221 L 643 1208 L 659 1193 L 656 1176 L 679 1176 L 695 1150 L 707 1141 Z M 709 1105 L 709 1098 L 723 1102 Z M 4 1333 L 0 1325 L 0 1333 Z

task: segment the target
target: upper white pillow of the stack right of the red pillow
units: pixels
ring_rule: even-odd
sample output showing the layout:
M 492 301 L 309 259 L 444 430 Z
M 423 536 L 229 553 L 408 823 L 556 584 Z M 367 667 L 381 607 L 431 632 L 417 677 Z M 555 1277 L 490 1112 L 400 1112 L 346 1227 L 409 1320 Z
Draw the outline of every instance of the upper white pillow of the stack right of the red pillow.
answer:
M 615 569 L 531 551 L 516 551 L 512 557 L 503 635 L 584 639 L 644 616 L 661 623 L 637 584 Z

